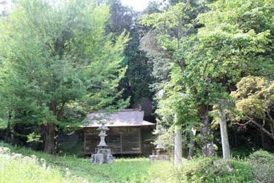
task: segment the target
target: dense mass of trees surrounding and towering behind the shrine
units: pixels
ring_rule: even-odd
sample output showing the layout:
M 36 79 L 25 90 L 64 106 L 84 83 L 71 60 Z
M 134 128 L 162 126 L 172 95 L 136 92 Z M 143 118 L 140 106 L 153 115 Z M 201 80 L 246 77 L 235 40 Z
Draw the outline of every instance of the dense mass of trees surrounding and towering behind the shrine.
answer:
M 273 0 L 10 6 L 0 16 L 4 143 L 58 154 L 59 136 L 88 112 L 142 107 L 175 165 L 274 152 Z

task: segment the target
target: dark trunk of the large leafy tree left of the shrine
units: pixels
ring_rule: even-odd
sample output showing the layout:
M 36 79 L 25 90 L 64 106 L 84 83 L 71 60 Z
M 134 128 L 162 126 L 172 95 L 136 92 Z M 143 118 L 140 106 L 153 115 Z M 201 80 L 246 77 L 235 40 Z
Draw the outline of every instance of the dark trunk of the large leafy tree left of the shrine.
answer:
M 45 152 L 54 154 L 55 152 L 55 124 L 49 123 L 45 125 Z

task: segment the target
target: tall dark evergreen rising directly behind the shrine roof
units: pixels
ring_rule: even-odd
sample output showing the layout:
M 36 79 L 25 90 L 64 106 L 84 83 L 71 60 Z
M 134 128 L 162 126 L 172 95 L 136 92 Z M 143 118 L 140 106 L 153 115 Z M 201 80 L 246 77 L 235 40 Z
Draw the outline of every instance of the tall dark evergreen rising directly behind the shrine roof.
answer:
M 119 36 L 126 30 L 130 40 L 125 48 L 124 64 L 127 64 L 125 77 L 120 82 L 120 88 L 124 89 L 123 97 L 130 97 L 131 107 L 136 107 L 142 98 L 151 100 L 152 92 L 149 85 L 153 83 L 151 77 L 152 66 L 143 51 L 140 51 L 140 38 L 143 29 L 138 22 L 140 12 L 136 12 L 123 5 L 120 0 L 110 0 L 110 21 L 105 27 L 106 32 Z

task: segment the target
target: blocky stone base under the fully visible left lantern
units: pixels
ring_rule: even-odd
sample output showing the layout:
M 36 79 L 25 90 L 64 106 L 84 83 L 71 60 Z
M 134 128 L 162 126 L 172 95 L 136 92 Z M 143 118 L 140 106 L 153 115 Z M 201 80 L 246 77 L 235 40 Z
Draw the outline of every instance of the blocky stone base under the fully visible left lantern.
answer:
M 97 153 L 91 155 L 90 162 L 93 164 L 112 164 L 113 159 L 110 149 L 98 149 Z

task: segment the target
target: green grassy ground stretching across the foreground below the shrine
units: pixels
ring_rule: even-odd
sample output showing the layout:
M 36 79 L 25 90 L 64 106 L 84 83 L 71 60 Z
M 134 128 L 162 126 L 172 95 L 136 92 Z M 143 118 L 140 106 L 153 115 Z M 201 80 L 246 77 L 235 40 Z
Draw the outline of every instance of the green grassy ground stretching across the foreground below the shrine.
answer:
M 149 162 L 147 158 L 121 158 L 116 159 L 114 164 L 95 165 L 90 164 L 86 158 L 77 158 L 75 156 L 51 156 L 42 152 L 32 151 L 21 147 L 12 147 L 11 145 L 0 143 L 0 147 L 8 147 L 11 151 L 32 156 L 33 154 L 39 159 L 43 158 L 47 166 L 40 164 L 32 165 L 27 171 L 22 171 L 21 177 L 27 177 L 29 182 L 42 182 L 46 177 L 52 178 L 54 182 L 121 182 L 121 183 L 177 183 L 177 182 L 252 182 L 251 166 L 244 160 L 232 160 L 234 170 L 232 173 L 224 171 L 222 168 L 212 167 L 212 158 L 198 158 L 195 160 L 184 160 L 184 169 L 173 169 L 171 162 Z M 5 163 L 2 163 L 5 162 Z M 18 166 L 22 162 L 12 162 L 8 165 L 7 160 L 0 157 L 0 175 L 10 172 L 5 178 L 0 176 L 0 182 L 10 182 L 8 177 L 18 172 L 18 169 L 27 167 L 28 162 L 23 162 L 23 167 Z M 25 163 L 25 164 L 24 164 Z M 4 164 L 4 165 L 3 165 Z M 37 167 L 38 166 L 38 167 Z M 47 170 L 45 167 L 51 167 Z M 25 174 L 24 174 L 25 173 Z M 48 174 L 47 174 L 48 173 Z M 54 175 L 54 176 L 53 176 Z M 73 175 L 81 179 L 74 180 Z M 56 177 L 55 177 L 56 176 Z M 18 176 L 17 176 L 18 177 Z M 16 177 L 16 178 L 17 178 Z M 14 178 L 14 182 L 16 182 Z M 6 180 L 5 180 L 6 179 Z M 20 179 L 19 179 L 20 180 Z M 53 182 L 43 180 L 44 182 Z M 21 181 L 17 181 L 21 182 Z

